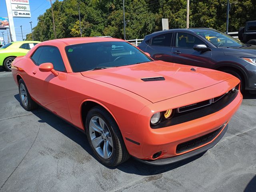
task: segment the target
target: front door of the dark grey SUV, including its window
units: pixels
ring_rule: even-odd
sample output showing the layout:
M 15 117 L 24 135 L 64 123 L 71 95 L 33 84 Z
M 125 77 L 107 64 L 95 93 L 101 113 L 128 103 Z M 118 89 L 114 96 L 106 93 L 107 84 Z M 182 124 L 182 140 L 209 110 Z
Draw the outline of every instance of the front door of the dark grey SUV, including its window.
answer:
M 206 42 L 186 32 L 176 32 L 174 34 L 174 48 L 172 49 L 172 62 L 206 67 L 212 64 L 212 51 L 196 51 L 193 49 L 196 44 L 205 44 Z

